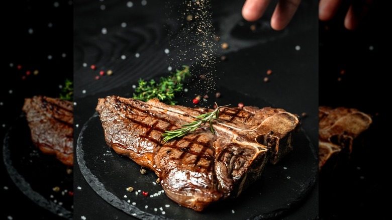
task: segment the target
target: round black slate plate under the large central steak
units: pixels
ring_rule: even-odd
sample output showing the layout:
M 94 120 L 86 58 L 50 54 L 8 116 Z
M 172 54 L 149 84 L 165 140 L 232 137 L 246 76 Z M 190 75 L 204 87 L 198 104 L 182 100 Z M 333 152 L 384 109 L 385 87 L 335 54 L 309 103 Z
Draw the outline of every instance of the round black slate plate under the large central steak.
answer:
M 246 105 L 272 106 L 265 100 L 224 87 L 218 90 L 224 95 L 209 99 L 204 105 L 213 101 L 219 105 L 236 105 L 241 101 Z M 190 95 L 182 94 L 178 104 L 192 106 L 191 99 L 186 96 Z M 76 156 L 80 170 L 92 189 L 105 201 L 140 219 L 273 218 L 295 208 L 317 179 L 315 147 L 302 129 L 295 134 L 295 150 L 277 165 L 269 164 L 263 178 L 239 198 L 197 212 L 170 200 L 162 187 L 154 183 L 157 176 L 152 171 L 141 175 L 140 166 L 109 148 L 103 134 L 100 119 L 94 113 L 82 127 L 77 140 Z M 134 192 L 126 190 L 129 186 Z M 142 191 L 147 191 L 148 196 L 143 196 Z

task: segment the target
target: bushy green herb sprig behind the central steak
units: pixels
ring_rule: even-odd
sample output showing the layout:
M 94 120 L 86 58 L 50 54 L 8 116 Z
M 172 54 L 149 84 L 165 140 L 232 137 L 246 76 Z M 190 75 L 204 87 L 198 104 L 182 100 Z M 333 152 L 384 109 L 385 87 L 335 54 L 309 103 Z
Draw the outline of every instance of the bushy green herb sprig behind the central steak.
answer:
M 174 94 L 182 90 L 185 77 L 190 76 L 189 66 L 183 65 L 182 67 L 182 70 L 177 69 L 170 76 L 160 77 L 158 83 L 154 79 L 148 82 L 139 79 L 139 86 L 135 88 L 133 98 L 142 101 L 158 98 L 166 104 L 176 104 L 177 101 L 174 100 Z

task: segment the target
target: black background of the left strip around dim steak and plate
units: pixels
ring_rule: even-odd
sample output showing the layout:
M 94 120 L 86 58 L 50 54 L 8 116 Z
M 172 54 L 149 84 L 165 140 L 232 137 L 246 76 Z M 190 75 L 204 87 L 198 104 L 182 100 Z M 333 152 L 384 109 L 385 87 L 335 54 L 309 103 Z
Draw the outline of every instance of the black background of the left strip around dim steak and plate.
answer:
M 55 7 L 55 3 L 58 7 Z M 25 97 L 47 95 L 59 97 L 59 85 L 72 80 L 72 20 L 73 2 L 56 1 L 6 1 L 2 4 L 2 78 L 0 79 L 0 139 L 17 124 L 22 114 Z M 51 25 L 50 25 L 51 24 Z M 51 27 L 49 27 L 51 26 Z M 29 30 L 33 32 L 30 34 Z M 64 54 L 64 55 L 63 55 Z M 48 59 L 48 56 L 52 59 Z M 17 66 L 21 65 L 21 69 Z M 34 71 L 39 73 L 34 75 Z M 30 75 L 27 75 L 30 71 Z M 25 77 L 25 79 L 22 79 Z M 12 90 L 12 93 L 10 93 Z M 23 143 L 30 136 L 20 136 L 20 155 L 26 152 Z M 2 144 L 3 149 L 3 144 Z M 17 149 L 14 149 L 18 152 Z M 48 160 L 54 163 L 57 161 Z M 15 161 L 23 163 L 23 161 Z M 21 192 L 1 164 L 1 219 L 64 219 L 37 205 Z M 57 167 L 57 166 L 54 166 Z M 60 166 L 61 167 L 61 166 Z M 37 170 L 37 172 L 39 172 Z M 58 170 L 59 174 L 64 169 Z M 53 176 L 36 178 L 43 190 L 51 190 L 47 182 Z M 48 188 L 50 187 L 50 188 Z M 54 187 L 54 186 L 53 186 Z M 36 188 L 37 191 L 39 189 Z

